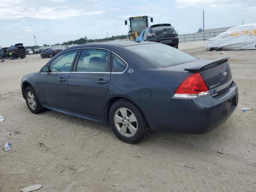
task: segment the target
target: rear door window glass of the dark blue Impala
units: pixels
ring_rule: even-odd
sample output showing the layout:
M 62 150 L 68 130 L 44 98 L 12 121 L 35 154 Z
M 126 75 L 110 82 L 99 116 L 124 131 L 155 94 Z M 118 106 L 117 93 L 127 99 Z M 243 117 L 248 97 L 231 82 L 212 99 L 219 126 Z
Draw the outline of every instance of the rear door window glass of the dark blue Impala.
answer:
M 110 72 L 109 55 L 109 51 L 102 49 L 82 50 L 76 72 Z

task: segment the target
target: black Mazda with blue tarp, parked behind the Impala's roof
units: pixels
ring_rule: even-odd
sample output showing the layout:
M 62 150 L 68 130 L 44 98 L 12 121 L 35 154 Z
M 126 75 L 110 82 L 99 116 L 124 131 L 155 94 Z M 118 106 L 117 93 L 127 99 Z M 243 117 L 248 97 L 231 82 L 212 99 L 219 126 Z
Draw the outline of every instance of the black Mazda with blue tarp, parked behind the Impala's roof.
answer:
M 154 41 L 170 45 L 178 49 L 178 32 L 174 30 L 171 24 L 152 25 L 142 32 L 140 41 Z

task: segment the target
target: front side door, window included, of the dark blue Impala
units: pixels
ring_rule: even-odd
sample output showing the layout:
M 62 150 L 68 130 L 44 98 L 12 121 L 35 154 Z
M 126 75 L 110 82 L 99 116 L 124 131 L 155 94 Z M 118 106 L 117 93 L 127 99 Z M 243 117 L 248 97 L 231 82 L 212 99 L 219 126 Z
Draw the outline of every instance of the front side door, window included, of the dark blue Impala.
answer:
M 38 76 L 38 92 L 44 104 L 72 110 L 68 98 L 68 78 L 79 50 L 64 52 L 50 62 L 50 72 Z

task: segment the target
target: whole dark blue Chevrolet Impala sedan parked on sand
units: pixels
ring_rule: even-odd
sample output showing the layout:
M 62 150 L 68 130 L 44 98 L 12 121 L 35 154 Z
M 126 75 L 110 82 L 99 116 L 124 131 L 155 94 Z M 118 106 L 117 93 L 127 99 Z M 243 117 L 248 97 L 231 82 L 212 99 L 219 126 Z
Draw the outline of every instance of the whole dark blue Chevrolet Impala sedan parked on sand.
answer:
M 32 113 L 45 108 L 104 124 L 136 143 L 150 130 L 202 134 L 238 104 L 228 58 L 201 60 L 154 42 L 108 42 L 59 52 L 22 76 Z

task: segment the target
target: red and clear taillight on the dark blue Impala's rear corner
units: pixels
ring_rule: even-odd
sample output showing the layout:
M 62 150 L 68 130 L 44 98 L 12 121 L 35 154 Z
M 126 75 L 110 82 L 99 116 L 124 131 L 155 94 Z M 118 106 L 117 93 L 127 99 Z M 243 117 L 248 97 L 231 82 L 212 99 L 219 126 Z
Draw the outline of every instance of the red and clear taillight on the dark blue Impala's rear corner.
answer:
M 198 98 L 209 94 L 200 73 L 193 73 L 178 86 L 173 98 Z

